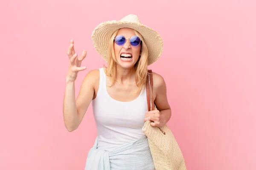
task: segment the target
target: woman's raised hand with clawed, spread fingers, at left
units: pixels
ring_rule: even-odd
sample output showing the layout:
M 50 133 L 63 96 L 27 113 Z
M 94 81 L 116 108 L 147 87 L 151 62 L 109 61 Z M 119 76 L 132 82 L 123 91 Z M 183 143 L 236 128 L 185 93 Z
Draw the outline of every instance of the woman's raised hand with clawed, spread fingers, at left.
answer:
M 86 57 L 86 51 L 83 50 L 82 55 L 77 57 L 74 49 L 74 41 L 70 41 L 70 46 L 67 51 L 67 56 L 70 59 L 70 66 L 67 73 L 67 81 L 75 81 L 79 71 L 83 71 L 86 67 L 81 67 L 82 60 Z

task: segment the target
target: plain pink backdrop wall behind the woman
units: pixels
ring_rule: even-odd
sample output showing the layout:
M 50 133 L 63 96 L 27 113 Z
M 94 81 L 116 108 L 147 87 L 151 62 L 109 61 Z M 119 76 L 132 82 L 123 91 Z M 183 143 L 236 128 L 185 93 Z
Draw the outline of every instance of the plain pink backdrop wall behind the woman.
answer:
M 137 14 L 164 40 L 150 68 L 168 87 L 168 125 L 188 170 L 256 169 L 255 0 L 1 1 L 0 169 L 83 170 L 96 137 L 91 106 L 64 127 L 70 39 L 87 50 L 76 81 L 105 63 L 91 33 Z

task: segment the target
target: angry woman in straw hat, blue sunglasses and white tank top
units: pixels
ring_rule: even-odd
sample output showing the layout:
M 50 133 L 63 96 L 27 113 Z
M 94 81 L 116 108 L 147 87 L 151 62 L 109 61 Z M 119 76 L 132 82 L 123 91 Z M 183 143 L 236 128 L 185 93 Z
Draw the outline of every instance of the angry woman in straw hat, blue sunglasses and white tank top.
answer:
M 99 24 L 92 38 L 108 66 L 89 71 L 75 99 L 74 81 L 78 72 L 86 69 L 81 67 L 86 51 L 77 57 L 71 40 L 63 105 L 65 126 L 70 132 L 76 130 L 92 102 L 98 135 L 85 169 L 153 170 L 142 127 L 148 120 L 151 126 L 162 127 L 171 117 L 163 77 L 153 72 L 153 98 L 158 110 L 148 111 L 145 92 L 148 65 L 162 54 L 162 39 L 133 14 Z

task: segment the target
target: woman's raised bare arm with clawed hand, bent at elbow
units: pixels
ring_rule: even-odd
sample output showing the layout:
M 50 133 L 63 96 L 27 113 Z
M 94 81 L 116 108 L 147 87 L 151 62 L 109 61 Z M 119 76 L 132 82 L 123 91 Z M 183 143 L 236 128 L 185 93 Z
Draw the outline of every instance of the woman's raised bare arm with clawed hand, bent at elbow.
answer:
M 63 100 L 63 117 L 64 124 L 68 131 L 73 131 L 80 125 L 84 114 L 93 99 L 94 83 L 97 79 L 97 71 L 90 71 L 82 82 L 79 96 L 75 97 L 75 80 L 79 71 L 83 71 L 86 67 L 81 67 L 82 60 L 86 57 L 84 50 L 80 57 L 77 56 L 74 49 L 74 41 L 70 41 L 67 51 L 70 59 L 70 65 L 66 77 L 66 87 Z

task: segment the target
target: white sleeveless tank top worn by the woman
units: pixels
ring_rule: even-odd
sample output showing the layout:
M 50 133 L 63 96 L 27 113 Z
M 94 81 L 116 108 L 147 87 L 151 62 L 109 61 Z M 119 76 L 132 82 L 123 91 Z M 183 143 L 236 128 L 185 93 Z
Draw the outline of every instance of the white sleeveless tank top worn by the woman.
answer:
M 93 114 L 98 131 L 97 148 L 111 151 L 122 144 L 145 136 L 142 131 L 147 112 L 146 91 L 131 102 L 120 102 L 109 96 L 106 74 L 99 69 L 99 90 L 92 100 Z

